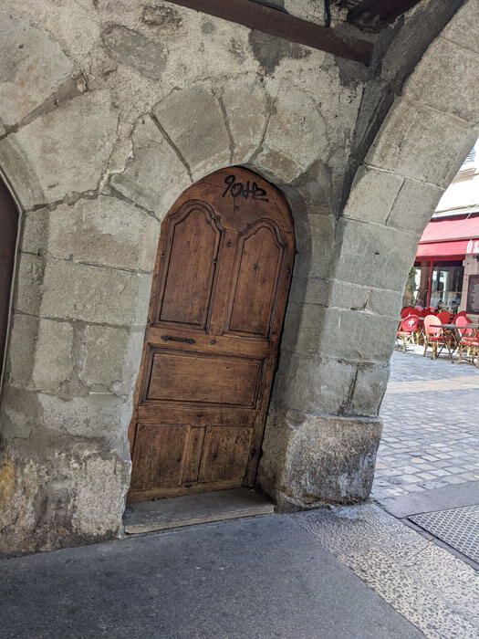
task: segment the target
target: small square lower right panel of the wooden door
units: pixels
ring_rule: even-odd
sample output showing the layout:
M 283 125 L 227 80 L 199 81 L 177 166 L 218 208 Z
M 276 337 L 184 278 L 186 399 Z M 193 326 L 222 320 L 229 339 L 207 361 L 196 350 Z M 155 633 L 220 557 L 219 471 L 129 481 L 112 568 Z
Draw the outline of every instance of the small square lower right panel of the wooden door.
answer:
M 252 434 L 252 428 L 206 428 L 199 482 L 237 479 L 241 486 Z

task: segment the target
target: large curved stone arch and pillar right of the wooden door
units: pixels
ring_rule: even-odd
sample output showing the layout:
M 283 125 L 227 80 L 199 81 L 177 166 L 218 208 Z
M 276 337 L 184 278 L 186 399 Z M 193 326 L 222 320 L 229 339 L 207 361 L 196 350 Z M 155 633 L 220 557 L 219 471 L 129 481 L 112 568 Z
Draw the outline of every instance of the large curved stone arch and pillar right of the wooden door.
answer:
M 292 319 L 297 339 L 278 375 L 276 430 L 266 430 L 260 474 L 285 508 L 370 494 L 406 279 L 422 230 L 478 135 L 478 25 L 470 0 L 394 100 L 338 218 L 326 301 L 320 277 L 302 283 L 307 306 Z

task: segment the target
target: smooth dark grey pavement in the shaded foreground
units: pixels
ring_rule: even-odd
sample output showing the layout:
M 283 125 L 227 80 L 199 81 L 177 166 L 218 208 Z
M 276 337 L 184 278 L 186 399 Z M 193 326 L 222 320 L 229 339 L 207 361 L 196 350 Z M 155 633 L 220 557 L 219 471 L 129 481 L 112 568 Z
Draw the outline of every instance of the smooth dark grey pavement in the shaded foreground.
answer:
M 297 516 L 0 561 L 2 637 L 421 637 Z

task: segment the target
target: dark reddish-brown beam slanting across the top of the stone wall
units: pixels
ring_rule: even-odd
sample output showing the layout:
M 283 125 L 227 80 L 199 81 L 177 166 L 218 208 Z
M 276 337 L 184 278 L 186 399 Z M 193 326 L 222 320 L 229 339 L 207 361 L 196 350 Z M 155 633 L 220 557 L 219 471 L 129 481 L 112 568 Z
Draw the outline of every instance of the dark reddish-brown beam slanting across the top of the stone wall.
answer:
M 339 58 L 348 58 L 369 67 L 372 43 L 356 37 L 339 36 L 333 29 L 289 16 L 250 0 L 168 0 L 173 5 L 186 6 L 209 16 L 283 37 L 307 47 L 318 48 Z

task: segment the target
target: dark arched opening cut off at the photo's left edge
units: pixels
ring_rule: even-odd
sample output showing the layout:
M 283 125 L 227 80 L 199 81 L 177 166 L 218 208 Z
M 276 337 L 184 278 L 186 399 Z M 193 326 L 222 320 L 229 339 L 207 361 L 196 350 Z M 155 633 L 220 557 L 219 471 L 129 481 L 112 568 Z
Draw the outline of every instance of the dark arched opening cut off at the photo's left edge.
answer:
M 5 343 L 10 314 L 10 290 L 14 274 L 18 212 L 5 183 L 0 179 L 0 380 L 4 369 Z

